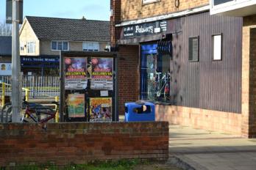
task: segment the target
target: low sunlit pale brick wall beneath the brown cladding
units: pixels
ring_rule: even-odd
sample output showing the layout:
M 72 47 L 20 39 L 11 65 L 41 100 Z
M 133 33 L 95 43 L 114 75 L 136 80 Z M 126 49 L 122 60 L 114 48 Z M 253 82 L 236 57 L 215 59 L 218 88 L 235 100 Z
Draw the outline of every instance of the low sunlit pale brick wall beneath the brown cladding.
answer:
M 156 106 L 156 119 L 172 125 L 217 130 L 241 136 L 241 114 L 182 106 Z

